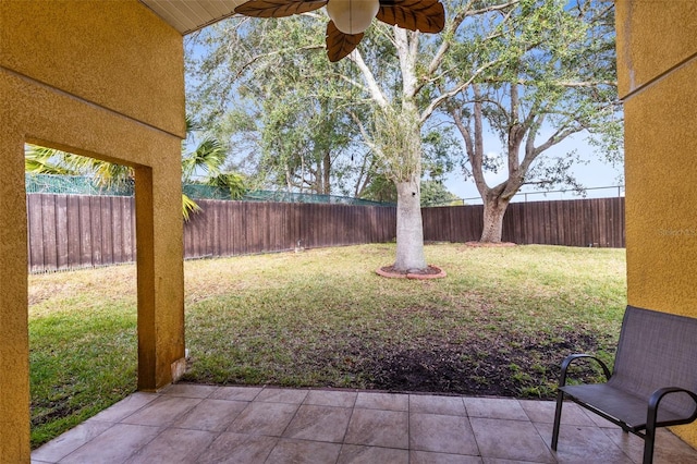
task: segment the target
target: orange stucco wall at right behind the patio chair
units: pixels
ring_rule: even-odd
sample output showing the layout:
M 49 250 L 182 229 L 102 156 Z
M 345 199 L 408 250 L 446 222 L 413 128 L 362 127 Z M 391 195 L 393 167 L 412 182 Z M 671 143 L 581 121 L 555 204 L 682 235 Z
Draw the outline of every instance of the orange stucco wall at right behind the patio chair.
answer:
M 627 297 L 697 317 L 697 2 L 617 1 Z M 697 425 L 675 431 L 697 447 Z

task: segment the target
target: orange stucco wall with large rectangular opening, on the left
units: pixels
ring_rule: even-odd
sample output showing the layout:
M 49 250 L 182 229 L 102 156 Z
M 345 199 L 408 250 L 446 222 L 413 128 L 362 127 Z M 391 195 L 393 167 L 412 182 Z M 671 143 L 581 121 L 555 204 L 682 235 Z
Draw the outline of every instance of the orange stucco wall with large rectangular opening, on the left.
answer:
M 0 462 L 28 463 L 23 144 L 136 168 L 138 388 L 167 384 L 184 355 L 183 44 L 135 0 L 1 1 L 0 25 Z

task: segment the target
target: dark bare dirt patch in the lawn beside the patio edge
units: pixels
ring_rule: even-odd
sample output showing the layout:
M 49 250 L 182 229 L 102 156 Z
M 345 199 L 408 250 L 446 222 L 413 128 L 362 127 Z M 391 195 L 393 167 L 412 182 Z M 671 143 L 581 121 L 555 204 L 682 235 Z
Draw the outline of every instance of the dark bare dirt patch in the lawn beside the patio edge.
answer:
M 353 370 L 378 390 L 552 399 L 563 358 L 598 349 L 594 337 L 574 332 L 554 340 L 543 334 L 473 337 L 462 344 L 430 341 L 408 349 L 381 346 L 362 353 Z M 597 373 L 588 366 L 574 376 L 588 381 Z

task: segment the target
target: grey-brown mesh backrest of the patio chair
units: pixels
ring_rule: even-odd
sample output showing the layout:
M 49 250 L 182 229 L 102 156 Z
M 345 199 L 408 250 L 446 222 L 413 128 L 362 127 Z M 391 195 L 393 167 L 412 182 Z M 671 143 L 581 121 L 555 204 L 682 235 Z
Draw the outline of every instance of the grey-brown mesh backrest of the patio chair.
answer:
M 662 387 L 697 392 L 697 319 L 627 306 L 609 383 L 645 398 Z M 664 406 L 689 413 L 695 403 L 671 394 Z

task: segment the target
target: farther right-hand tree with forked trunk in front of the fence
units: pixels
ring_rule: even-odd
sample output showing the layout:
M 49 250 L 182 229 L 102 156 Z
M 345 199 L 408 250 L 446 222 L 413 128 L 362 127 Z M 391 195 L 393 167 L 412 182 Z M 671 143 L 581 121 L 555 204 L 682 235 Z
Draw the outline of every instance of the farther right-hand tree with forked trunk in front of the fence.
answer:
M 583 133 L 602 156 L 621 158 L 613 13 L 602 1 L 511 2 L 472 21 L 469 38 L 454 46 L 451 65 L 464 75 L 500 58 L 442 107 L 462 135 L 464 170 L 484 200 L 482 241 L 501 241 L 503 215 L 523 185 L 582 187 L 570 174 L 574 152 L 546 156 L 570 136 Z M 492 45 L 481 45 L 481 37 Z M 487 131 L 499 147 L 484 146 Z M 485 172 L 494 166 L 508 175 L 490 186 Z

